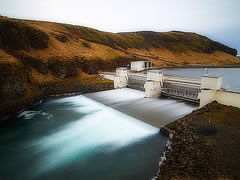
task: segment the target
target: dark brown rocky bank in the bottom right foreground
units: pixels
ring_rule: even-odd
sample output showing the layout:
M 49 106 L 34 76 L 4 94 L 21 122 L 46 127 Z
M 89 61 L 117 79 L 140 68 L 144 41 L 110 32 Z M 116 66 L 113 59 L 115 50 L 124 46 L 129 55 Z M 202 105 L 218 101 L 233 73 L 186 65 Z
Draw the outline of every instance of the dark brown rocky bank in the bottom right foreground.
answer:
M 158 179 L 239 178 L 239 117 L 239 108 L 213 102 L 167 125 L 173 139 Z

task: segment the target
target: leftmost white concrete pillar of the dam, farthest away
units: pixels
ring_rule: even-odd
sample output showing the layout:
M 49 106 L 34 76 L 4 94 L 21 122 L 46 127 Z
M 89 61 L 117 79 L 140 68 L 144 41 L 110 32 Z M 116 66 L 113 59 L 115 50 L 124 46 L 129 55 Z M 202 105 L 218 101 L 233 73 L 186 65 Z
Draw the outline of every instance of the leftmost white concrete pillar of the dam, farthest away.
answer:
M 128 84 L 128 73 L 127 68 L 117 68 L 116 76 L 114 77 L 114 88 L 127 87 Z

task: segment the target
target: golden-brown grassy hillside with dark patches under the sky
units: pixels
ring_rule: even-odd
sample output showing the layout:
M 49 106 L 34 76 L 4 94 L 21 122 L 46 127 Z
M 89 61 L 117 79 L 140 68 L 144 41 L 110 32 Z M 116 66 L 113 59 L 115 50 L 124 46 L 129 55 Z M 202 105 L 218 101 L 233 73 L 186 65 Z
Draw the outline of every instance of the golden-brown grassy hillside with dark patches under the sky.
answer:
M 225 65 L 239 63 L 236 54 L 235 49 L 196 33 L 109 33 L 0 17 L 0 106 L 35 97 L 46 87 L 93 81 L 89 74 L 133 60 L 151 60 L 159 67 Z M 69 91 L 73 90 L 61 92 Z

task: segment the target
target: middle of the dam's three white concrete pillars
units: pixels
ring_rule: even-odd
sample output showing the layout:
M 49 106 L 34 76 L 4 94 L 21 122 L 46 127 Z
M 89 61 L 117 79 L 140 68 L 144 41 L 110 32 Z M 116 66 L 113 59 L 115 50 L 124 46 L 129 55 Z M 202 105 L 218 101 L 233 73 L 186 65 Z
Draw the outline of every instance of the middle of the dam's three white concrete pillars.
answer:
M 144 84 L 145 97 L 159 97 L 163 87 L 163 74 L 160 70 L 150 70 L 147 72 L 147 81 Z

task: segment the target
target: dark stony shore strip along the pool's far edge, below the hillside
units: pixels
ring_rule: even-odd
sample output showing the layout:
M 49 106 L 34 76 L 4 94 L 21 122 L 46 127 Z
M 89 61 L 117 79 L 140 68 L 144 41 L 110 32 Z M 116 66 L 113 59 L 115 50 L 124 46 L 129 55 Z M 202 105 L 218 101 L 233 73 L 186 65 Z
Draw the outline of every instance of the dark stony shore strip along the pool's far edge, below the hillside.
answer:
M 10 119 L 17 113 L 31 107 L 37 102 L 49 96 L 66 94 L 84 94 L 113 89 L 113 83 L 107 80 L 90 79 L 89 82 L 55 83 L 49 84 L 39 89 L 34 89 L 34 93 L 19 97 L 14 100 L 0 103 L 0 122 Z

